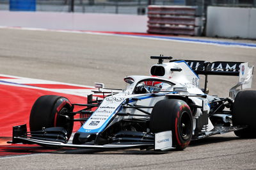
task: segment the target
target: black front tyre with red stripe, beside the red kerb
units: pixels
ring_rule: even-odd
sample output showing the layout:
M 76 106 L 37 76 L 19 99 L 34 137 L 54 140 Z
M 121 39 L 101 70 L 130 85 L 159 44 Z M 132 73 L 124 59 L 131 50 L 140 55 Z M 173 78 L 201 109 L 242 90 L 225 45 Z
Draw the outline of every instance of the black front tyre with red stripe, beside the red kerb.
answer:
M 72 121 L 74 116 L 65 115 L 65 112 L 72 110 L 72 105 L 65 97 L 55 95 L 39 97 L 30 112 L 29 128 L 31 131 L 36 131 L 42 130 L 43 127 L 64 127 L 69 139 L 74 126 Z

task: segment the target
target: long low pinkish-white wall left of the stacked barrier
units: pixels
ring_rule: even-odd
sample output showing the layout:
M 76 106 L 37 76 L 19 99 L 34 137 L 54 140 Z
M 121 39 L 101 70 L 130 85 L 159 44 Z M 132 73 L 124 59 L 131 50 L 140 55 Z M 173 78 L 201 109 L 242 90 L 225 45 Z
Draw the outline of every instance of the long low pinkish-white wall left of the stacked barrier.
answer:
M 0 26 L 84 31 L 147 32 L 146 15 L 0 11 Z

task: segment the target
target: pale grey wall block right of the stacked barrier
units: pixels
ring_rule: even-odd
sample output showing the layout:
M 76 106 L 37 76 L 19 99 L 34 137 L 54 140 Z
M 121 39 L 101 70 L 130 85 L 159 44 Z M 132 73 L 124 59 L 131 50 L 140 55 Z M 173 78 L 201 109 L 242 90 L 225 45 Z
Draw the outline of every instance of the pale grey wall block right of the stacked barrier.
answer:
M 206 36 L 256 38 L 256 8 L 209 6 Z

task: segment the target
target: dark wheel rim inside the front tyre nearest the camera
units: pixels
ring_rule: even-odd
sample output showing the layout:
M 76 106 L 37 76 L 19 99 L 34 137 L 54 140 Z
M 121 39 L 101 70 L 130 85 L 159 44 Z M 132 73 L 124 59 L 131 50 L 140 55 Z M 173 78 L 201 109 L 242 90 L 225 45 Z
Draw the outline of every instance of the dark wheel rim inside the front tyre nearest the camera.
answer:
M 180 117 L 180 135 L 184 140 L 189 139 L 191 134 L 191 120 L 188 112 L 183 112 Z

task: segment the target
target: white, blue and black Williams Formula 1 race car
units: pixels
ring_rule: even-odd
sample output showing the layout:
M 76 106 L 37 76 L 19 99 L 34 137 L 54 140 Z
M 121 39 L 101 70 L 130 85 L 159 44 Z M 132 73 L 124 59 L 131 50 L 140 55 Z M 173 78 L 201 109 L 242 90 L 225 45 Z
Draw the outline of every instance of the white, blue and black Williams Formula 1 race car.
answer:
M 215 134 L 234 131 L 239 137 L 256 137 L 256 91 L 242 90 L 252 86 L 253 66 L 161 55 L 151 59 L 158 59 L 151 75 L 125 77 L 125 89 L 96 83 L 99 91 L 93 92 L 103 99 L 89 95 L 87 104 L 71 104 L 60 96 L 38 98 L 31 109 L 30 132 L 26 125 L 13 127 L 12 143 L 184 150 L 191 140 Z M 198 74 L 205 75 L 204 89 L 199 88 Z M 230 97 L 210 96 L 208 75 L 239 76 L 239 82 L 230 89 Z M 84 109 L 75 112 L 77 105 Z M 76 114 L 80 118 L 74 118 Z M 72 135 L 74 121 L 80 121 L 81 128 Z

